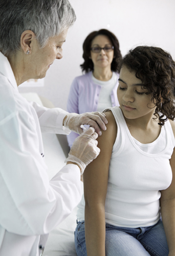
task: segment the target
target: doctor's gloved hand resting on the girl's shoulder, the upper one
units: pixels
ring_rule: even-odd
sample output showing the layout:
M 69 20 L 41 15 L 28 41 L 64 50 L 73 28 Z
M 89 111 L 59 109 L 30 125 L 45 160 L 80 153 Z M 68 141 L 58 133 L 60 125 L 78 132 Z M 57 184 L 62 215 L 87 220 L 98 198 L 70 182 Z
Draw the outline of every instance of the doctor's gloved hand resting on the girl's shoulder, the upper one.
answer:
M 95 131 L 100 136 L 101 130 L 106 131 L 107 119 L 106 115 L 102 112 L 87 112 L 83 114 L 68 113 L 63 121 L 64 127 L 69 128 L 71 131 L 81 134 L 83 129 L 81 125 L 89 125 L 95 128 Z

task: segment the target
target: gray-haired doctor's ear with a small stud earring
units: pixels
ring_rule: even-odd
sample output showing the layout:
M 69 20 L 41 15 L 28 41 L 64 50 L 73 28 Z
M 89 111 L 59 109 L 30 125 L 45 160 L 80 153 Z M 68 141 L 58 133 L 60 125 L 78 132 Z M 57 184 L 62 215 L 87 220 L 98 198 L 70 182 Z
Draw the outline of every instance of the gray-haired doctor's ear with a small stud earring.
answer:
M 35 39 L 35 35 L 33 31 L 31 30 L 25 30 L 22 35 L 20 36 L 20 46 L 22 47 L 22 50 L 26 54 L 31 53 L 31 43 Z

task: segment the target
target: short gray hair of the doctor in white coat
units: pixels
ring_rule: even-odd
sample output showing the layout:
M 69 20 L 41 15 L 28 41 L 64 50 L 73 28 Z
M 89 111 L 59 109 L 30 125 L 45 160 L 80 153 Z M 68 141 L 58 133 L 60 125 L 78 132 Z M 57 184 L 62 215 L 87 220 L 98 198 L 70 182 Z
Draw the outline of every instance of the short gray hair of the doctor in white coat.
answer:
M 0 51 L 9 56 L 20 50 L 20 36 L 32 30 L 41 47 L 76 20 L 68 0 L 1 0 Z

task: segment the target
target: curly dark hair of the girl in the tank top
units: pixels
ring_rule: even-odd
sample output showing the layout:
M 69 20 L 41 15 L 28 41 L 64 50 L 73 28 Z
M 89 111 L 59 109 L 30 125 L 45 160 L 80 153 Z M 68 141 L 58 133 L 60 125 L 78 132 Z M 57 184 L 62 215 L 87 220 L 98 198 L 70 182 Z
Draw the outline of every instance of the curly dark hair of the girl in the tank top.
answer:
M 164 125 L 168 120 L 174 120 L 174 88 L 175 88 L 175 62 L 170 53 L 159 47 L 138 46 L 129 50 L 118 65 L 118 71 L 125 66 L 129 71 L 134 71 L 135 76 L 152 94 L 155 103 L 155 118 L 159 117 L 159 125 Z

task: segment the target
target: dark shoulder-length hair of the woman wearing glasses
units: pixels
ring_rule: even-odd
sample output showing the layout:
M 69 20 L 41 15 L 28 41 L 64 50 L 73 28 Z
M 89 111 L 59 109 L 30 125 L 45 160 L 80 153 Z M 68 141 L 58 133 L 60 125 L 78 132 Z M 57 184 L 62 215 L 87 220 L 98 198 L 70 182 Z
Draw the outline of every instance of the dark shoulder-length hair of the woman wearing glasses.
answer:
M 90 57 L 90 48 L 92 45 L 92 40 L 95 39 L 96 36 L 104 35 L 107 36 L 108 39 L 110 39 L 111 43 L 114 46 L 114 59 L 111 63 L 111 71 L 117 71 L 118 68 L 118 62 L 121 59 L 121 52 L 119 49 L 119 42 L 117 37 L 110 32 L 107 29 L 100 29 L 98 31 L 91 32 L 85 39 L 83 43 L 83 59 L 85 60 L 83 64 L 81 64 L 82 71 L 85 71 L 85 73 L 88 73 L 89 71 L 93 71 L 93 62 Z

